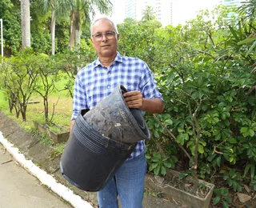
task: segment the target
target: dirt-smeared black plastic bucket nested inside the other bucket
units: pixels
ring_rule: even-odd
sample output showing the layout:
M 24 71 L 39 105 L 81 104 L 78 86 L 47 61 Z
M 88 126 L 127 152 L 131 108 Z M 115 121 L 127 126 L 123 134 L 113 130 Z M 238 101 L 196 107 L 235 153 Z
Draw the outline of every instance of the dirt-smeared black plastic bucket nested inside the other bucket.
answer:
M 118 86 L 84 115 L 86 122 L 94 126 L 104 137 L 118 142 L 131 144 L 150 139 L 150 131 L 146 126 L 142 110 L 129 109 L 122 96 L 127 92 L 124 86 Z

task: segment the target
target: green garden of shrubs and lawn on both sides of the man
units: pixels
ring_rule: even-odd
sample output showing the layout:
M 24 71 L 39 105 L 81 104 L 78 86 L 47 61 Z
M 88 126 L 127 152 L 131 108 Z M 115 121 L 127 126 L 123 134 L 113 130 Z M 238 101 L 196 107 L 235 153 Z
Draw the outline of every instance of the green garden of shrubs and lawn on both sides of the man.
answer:
M 145 114 L 148 173 L 198 197 L 209 191 L 201 180 L 214 184 L 211 207 L 256 207 L 256 5 L 249 2 L 202 10 L 185 25 L 131 18 L 118 24 L 118 52 L 150 66 L 165 101 L 162 114 Z M 35 11 L 41 23 L 40 30 L 32 25 L 38 38 L 31 48 L 19 50 L 20 42 L 6 37 L 0 110 L 26 131 L 38 134 L 39 122 L 68 132 L 75 74 L 97 58 L 90 30 L 82 30 L 78 50 L 66 50 L 69 25 L 59 20 L 57 53 L 50 54 L 50 16 Z M 227 19 L 230 12 L 237 15 Z M 42 138 L 62 152 L 65 142 Z M 179 174 L 169 178 L 171 170 Z

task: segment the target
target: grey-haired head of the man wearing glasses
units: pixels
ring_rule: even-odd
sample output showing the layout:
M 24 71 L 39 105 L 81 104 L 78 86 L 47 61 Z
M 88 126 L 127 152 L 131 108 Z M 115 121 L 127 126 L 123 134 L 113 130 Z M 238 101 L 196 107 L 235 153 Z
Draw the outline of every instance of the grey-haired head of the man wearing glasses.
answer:
M 91 42 L 98 56 L 112 57 L 118 50 L 118 29 L 107 16 L 96 18 L 90 26 Z

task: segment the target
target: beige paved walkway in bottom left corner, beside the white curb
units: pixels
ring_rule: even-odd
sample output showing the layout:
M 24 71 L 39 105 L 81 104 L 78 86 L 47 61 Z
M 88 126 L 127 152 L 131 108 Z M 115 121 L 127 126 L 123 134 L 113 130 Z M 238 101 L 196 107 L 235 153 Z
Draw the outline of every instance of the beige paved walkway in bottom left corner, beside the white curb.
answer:
M 0 143 L 0 208 L 70 208 L 14 162 Z

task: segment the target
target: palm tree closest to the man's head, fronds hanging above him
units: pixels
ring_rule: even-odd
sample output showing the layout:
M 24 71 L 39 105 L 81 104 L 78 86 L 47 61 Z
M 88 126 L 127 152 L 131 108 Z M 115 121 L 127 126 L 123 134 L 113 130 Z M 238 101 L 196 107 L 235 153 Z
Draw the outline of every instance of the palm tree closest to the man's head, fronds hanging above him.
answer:
M 70 0 L 70 50 L 80 44 L 80 23 L 90 23 L 90 14 L 95 15 L 95 9 L 100 13 L 108 14 L 112 3 L 110 0 Z M 83 19 L 84 21 L 81 21 Z

